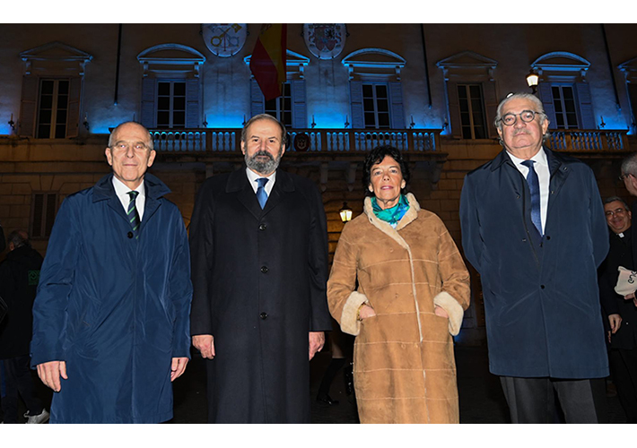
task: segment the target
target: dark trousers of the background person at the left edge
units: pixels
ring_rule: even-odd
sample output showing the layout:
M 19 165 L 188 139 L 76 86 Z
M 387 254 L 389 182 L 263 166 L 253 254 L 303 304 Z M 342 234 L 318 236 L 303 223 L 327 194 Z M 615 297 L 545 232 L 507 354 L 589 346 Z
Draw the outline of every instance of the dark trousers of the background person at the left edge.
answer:
M 18 393 L 31 416 L 42 413 L 42 401 L 34 393 L 29 356 L 8 358 L 3 363 L 2 409 L 4 423 L 18 423 Z

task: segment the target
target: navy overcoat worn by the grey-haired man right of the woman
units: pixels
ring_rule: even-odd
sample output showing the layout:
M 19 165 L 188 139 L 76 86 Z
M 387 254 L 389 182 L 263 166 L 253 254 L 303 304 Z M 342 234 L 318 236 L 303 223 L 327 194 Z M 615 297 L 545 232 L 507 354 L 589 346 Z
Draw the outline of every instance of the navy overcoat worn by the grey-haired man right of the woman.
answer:
M 551 173 L 544 237 L 528 183 L 506 151 L 465 177 L 462 246 L 480 272 L 494 375 L 608 375 L 597 268 L 606 218 L 591 169 L 545 150 Z

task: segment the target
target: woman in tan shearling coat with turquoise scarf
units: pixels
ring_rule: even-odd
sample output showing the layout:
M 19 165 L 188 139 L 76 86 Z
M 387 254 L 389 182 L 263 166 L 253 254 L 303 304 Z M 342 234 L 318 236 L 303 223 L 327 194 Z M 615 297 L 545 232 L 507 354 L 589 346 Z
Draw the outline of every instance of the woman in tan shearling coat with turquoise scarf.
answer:
M 371 151 L 363 168 L 371 197 L 343 229 L 327 301 L 356 336 L 362 423 L 458 423 L 451 335 L 469 305 L 469 274 L 441 219 L 404 194 L 408 180 L 396 148 Z

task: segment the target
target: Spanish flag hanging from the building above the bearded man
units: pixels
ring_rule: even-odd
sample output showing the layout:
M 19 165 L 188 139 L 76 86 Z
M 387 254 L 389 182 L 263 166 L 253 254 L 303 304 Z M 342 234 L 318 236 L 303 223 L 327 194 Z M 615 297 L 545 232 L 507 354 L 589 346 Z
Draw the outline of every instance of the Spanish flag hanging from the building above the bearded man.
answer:
M 283 95 L 287 23 L 264 23 L 250 57 L 250 71 L 266 101 Z

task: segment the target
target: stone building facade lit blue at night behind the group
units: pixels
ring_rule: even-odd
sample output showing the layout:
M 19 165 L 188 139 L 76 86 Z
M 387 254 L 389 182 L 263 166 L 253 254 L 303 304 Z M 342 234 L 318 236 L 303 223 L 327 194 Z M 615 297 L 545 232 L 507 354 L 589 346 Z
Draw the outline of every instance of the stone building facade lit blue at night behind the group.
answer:
M 11 24 L 0 27 L 0 222 L 46 252 L 66 194 L 109 172 L 109 129 L 152 130 L 152 171 L 188 225 L 205 177 L 242 163 L 240 128 L 282 119 L 282 166 L 323 192 L 330 254 L 343 203 L 362 212 L 362 160 L 406 152 L 411 191 L 460 246 L 464 176 L 501 151 L 495 108 L 537 95 L 548 145 L 584 159 L 603 196 L 627 198 L 621 159 L 637 148 L 637 25 L 288 24 L 284 96 L 265 101 L 249 70 L 261 24 Z M 458 341 L 484 338 L 479 278 Z

